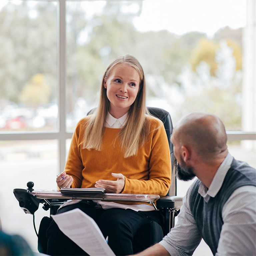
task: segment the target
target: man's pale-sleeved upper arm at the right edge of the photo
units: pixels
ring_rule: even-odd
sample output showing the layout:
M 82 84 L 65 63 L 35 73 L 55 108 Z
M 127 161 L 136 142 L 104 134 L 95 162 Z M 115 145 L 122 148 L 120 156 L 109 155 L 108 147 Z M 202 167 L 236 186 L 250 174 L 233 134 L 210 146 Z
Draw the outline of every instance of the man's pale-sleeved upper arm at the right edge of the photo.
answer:
M 216 256 L 256 255 L 256 187 L 236 189 L 222 209 Z

